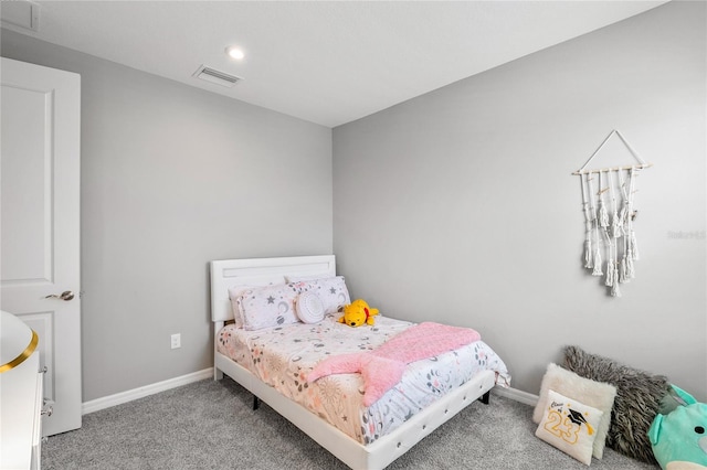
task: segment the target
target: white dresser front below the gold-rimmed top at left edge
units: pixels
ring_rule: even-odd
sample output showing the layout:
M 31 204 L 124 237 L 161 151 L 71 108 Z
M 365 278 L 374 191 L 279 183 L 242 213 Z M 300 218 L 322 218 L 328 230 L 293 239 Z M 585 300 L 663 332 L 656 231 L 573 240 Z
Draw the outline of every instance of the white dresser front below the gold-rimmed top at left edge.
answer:
M 39 351 L 0 374 L 0 469 L 40 469 L 42 381 Z

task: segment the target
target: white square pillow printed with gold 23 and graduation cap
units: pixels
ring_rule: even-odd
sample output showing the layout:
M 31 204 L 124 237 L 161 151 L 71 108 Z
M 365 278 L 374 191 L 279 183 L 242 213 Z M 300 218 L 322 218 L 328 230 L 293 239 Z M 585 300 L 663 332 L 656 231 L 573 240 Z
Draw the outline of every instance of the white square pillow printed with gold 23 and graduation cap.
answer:
M 547 406 L 535 435 L 589 466 L 592 462 L 597 428 L 603 414 L 577 399 L 548 391 Z

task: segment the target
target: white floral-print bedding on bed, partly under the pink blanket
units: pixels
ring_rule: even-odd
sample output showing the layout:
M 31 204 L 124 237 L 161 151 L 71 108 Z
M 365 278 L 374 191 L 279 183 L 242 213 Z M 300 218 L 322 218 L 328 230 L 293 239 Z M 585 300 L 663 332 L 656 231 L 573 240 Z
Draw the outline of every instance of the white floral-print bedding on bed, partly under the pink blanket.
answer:
M 365 407 L 359 374 L 329 375 L 313 383 L 307 383 L 307 374 L 325 357 L 372 351 L 413 323 L 377 316 L 372 327 L 351 328 L 339 323 L 338 317 L 257 331 L 229 324 L 218 333 L 217 349 L 362 445 L 398 428 L 481 371 L 494 371 L 497 385 L 509 386 L 503 360 L 484 341 L 476 341 L 409 364 L 393 388 Z

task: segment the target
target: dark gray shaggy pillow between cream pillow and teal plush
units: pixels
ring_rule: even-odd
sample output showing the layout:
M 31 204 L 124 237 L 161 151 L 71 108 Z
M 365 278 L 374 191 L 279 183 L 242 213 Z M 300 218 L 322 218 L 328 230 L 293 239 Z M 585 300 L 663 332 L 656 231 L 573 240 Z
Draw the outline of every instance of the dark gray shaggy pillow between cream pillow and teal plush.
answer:
M 562 366 L 582 377 L 616 387 L 606 446 L 634 459 L 656 463 L 647 432 L 658 413 L 661 398 L 668 393 L 667 377 L 589 354 L 578 346 L 564 349 Z

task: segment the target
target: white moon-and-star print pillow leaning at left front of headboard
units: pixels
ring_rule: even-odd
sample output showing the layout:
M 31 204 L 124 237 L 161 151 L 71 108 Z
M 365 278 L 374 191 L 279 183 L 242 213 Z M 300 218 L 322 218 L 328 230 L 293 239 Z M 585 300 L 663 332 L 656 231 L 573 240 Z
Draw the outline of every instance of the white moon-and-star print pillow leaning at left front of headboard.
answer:
M 297 293 L 293 292 L 288 284 L 246 290 L 238 300 L 243 314 L 243 328 L 261 330 L 297 323 L 296 298 Z

